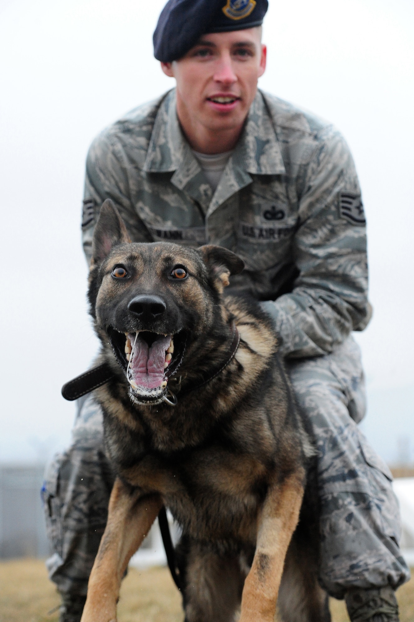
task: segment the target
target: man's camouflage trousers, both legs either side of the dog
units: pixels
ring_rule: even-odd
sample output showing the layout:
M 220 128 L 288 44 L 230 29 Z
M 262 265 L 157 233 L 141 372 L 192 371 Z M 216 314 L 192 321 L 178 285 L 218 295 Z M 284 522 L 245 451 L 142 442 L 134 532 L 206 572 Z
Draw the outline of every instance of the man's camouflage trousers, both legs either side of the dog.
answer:
M 349 588 L 397 588 L 410 577 L 392 475 L 357 424 L 365 414 L 359 348 L 349 337 L 333 353 L 288 362 L 298 406 L 317 447 L 320 583 L 336 598 Z M 103 449 L 102 413 L 83 403 L 67 452 L 48 466 L 44 486 L 54 553 L 49 577 L 63 595 L 85 595 L 103 534 L 113 473 Z

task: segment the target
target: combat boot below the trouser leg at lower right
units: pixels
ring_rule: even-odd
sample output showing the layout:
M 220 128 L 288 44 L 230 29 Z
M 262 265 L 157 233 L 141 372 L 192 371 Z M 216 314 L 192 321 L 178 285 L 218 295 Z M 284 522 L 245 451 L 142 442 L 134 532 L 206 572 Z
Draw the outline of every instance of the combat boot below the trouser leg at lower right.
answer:
M 354 588 L 345 595 L 351 622 L 399 622 L 398 603 L 392 587 Z

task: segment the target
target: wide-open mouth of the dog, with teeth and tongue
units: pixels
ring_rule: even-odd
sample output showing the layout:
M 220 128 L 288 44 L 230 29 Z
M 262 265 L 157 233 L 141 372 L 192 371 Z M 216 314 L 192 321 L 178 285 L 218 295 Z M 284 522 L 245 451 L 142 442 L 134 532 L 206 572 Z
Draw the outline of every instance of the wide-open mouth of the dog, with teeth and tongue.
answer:
M 139 404 L 159 404 L 167 394 L 168 379 L 175 374 L 185 350 L 185 333 L 160 335 L 149 331 L 119 333 L 108 330 L 117 360 L 126 372 L 132 399 Z

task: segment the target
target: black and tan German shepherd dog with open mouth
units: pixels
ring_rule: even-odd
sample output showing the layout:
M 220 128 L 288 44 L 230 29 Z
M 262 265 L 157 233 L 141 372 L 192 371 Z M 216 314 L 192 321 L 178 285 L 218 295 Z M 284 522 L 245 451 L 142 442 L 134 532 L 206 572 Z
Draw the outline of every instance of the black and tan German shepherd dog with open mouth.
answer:
M 81 622 L 116 620 L 163 505 L 182 527 L 186 622 L 273 622 L 277 601 L 283 621 L 330 620 L 302 506 L 313 449 L 277 337 L 257 303 L 223 294 L 243 267 L 218 246 L 131 243 L 101 207 L 89 299 L 114 374 L 95 395 L 117 478 Z

